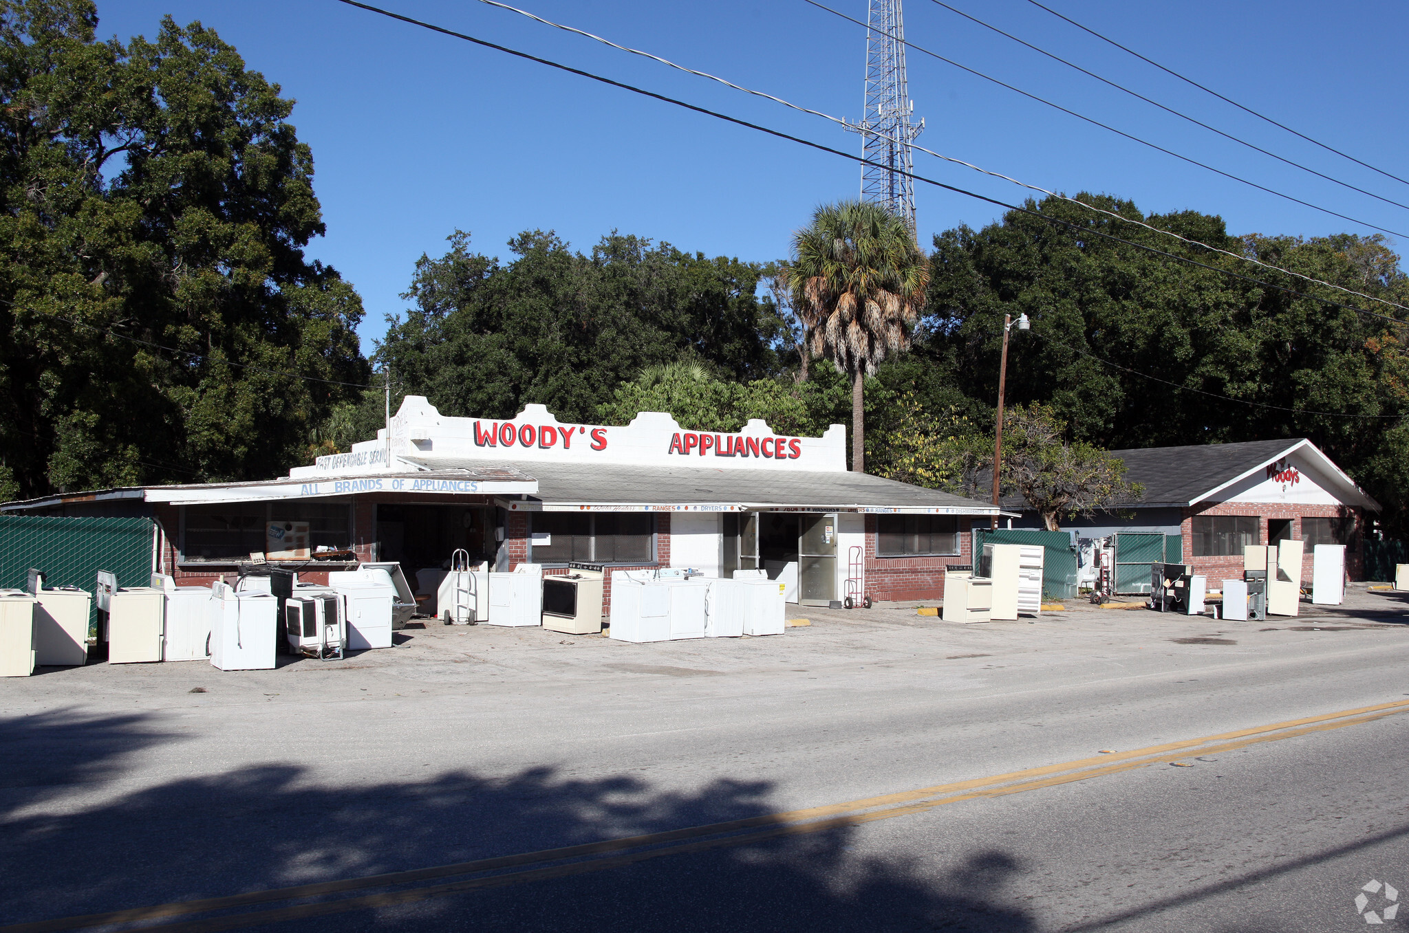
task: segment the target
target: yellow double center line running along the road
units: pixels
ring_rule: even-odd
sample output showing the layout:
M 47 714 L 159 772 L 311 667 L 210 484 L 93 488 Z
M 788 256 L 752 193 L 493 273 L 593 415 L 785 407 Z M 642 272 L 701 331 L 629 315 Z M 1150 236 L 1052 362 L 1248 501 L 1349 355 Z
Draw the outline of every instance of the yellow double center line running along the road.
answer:
M 769 813 L 766 816 L 751 816 L 723 823 L 709 823 L 706 826 L 692 826 L 689 829 L 675 829 L 664 833 L 647 833 L 643 836 L 627 836 L 599 843 L 582 846 L 566 846 L 562 849 L 544 849 L 541 851 L 520 853 L 517 856 L 502 856 L 499 858 L 479 858 L 476 861 L 462 861 L 452 865 L 437 865 L 434 868 L 418 868 L 414 871 L 393 871 L 364 878 L 347 878 L 344 881 L 324 881 L 317 884 L 296 885 L 292 888 L 272 888 L 266 891 L 251 891 L 224 898 L 204 898 L 200 901 L 178 901 L 149 908 L 131 908 L 127 910 L 110 910 L 107 913 L 89 913 L 85 916 L 58 918 L 54 920 L 39 920 L 35 923 L 17 923 L 0 927 L 0 933 L 55 933 L 58 930 L 80 930 L 94 926 L 110 926 L 116 923 L 151 923 L 166 918 L 190 916 L 196 913 L 210 913 L 216 910 L 230 910 L 235 908 L 249 908 L 258 903 L 275 901 L 307 901 L 310 898 L 330 898 L 331 895 L 348 895 L 373 888 L 400 888 L 396 891 L 379 891 L 359 896 L 342 896 L 334 899 L 311 901 L 294 903 L 269 910 L 247 910 L 223 916 L 185 920 L 178 923 L 162 923 L 159 926 L 144 926 L 162 933 L 214 933 L 216 930 L 232 930 L 244 926 L 259 926 L 283 920 L 342 913 L 347 910 L 362 910 L 369 908 L 385 908 L 399 903 L 424 901 L 445 894 L 476 891 L 483 888 L 499 888 L 530 881 L 545 881 L 550 878 L 564 878 L 568 875 L 606 871 L 630 865 L 648 858 L 662 856 L 676 856 L 706 849 L 720 849 L 726 846 L 743 846 L 750 843 L 779 839 L 785 836 L 802 836 L 820 833 L 830 829 L 859 826 L 881 819 L 893 819 L 910 813 L 958 804 L 986 796 L 1003 796 L 1007 794 L 1022 794 L 1074 781 L 1086 781 L 1096 777 L 1106 777 L 1143 768 L 1160 761 L 1169 761 L 1174 757 L 1189 757 L 1193 754 L 1215 754 L 1246 749 L 1264 742 L 1278 742 L 1295 736 L 1305 736 L 1313 732 L 1341 729 L 1363 722 L 1371 722 L 1409 712 L 1409 699 L 1377 706 L 1361 706 L 1358 709 L 1344 709 L 1341 712 L 1322 716 L 1308 716 L 1305 719 L 1289 719 L 1253 729 L 1224 732 L 1200 739 L 1186 739 L 1184 742 L 1169 742 L 1165 744 L 1148 746 L 1133 751 L 1117 751 L 1092 759 L 1079 759 L 1062 764 L 1048 764 L 1023 771 L 1009 771 L 985 778 L 969 781 L 955 781 L 952 784 L 937 784 L 913 791 L 883 794 L 868 796 L 845 804 L 828 806 L 812 806 L 807 809 L 788 811 L 783 813 Z M 554 864 L 557 863 L 557 864 Z M 538 865 L 524 868 L 524 865 Z M 504 868 L 520 868 L 519 871 L 503 871 Z M 486 874 L 486 872 L 499 874 Z M 459 875 L 478 875 L 461 878 L 442 884 L 424 884 L 437 878 L 452 878 Z M 410 887 L 406 887 L 410 885 Z

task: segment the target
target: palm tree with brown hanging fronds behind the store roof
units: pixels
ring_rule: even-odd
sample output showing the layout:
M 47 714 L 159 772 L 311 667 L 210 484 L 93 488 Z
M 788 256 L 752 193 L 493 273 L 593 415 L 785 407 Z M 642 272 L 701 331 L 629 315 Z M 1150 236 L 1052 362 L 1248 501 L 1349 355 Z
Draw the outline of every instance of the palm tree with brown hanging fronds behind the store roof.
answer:
M 905 220 L 869 201 L 819 207 L 793 234 L 793 256 L 792 293 L 813 353 L 851 377 L 851 469 L 865 473 L 865 377 L 910 349 L 930 265 Z

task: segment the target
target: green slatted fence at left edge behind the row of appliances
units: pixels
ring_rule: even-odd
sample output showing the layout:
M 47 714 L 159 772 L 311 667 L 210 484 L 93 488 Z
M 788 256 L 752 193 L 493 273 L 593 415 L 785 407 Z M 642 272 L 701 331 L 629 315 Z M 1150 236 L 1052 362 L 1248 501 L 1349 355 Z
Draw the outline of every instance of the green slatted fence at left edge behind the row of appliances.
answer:
M 120 587 L 145 587 L 152 581 L 152 519 L 0 515 L 0 587 L 24 588 L 30 567 L 45 571 L 51 587 L 93 592 L 99 570 L 117 574 Z

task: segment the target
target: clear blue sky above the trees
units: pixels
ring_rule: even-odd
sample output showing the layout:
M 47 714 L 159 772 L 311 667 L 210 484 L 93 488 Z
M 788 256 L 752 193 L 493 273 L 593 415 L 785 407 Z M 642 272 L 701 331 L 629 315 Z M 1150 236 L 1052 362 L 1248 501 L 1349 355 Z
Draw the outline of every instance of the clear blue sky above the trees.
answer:
M 823 0 L 864 20 L 864 0 Z M 947 0 L 1034 45 L 1285 158 L 1409 204 L 1409 186 L 1264 124 L 1038 10 L 1026 0 Z M 1402 115 L 1409 6 L 1246 0 L 1044 0 L 1047 6 L 1229 97 L 1409 179 Z M 723 110 L 833 148 L 858 138 L 661 65 L 476 0 L 378 6 L 627 83 Z M 740 84 L 855 120 L 865 31 L 803 0 L 647 3 L 521 0 L 514 6 Z M 507 256 L 523 229 L 555 229 L 588 250 L 612 229 L 707 255 L 768 260 L 788 252 L 812 208 L 854 197 L 859 169 L 836 156 L 727 125 L 500 52 L 393 23 L 335 0 L 99 0 L 99 34 L 155 35 L 162 14 L 200 20 L 248 68 L 296 99 L 313 146 L 328 234 L 310 255 L 362 294 L 364 350 L 397 314 L 416 259 L 445 236 Z M 1409 211 L 1348 191 L 1162 114 L 930 0 L 906 4 L 907 38 L 969 68 L 1271 189 L 1391 229 Z M 1146 211 L 1220 214 L 1233 232 L 1374 232 L 1120 139 L 909 52 L 919 142 L 1033 184 L 1133 198 Z M 1006 201 L 1013 186 L 916 155 L 916 172 Z M 920 242 L 999 208 L 917 184 Z M 1396 238 L 1392 238 L 1398 242 Z

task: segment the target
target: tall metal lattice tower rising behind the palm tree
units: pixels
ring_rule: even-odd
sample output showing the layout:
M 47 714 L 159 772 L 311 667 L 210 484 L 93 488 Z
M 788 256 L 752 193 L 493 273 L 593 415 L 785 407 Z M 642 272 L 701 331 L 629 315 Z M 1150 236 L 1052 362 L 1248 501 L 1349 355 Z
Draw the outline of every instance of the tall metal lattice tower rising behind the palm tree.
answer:
M 912 122 L 914 101 L 905 77 L 905 14 L 900 0 L 871 0 L 867 30 L 865 111 L 848 128 L 861 134 L 861 200 L 883 204 L 914 234 L 914 170 L 910 142 L 924 132 Z

